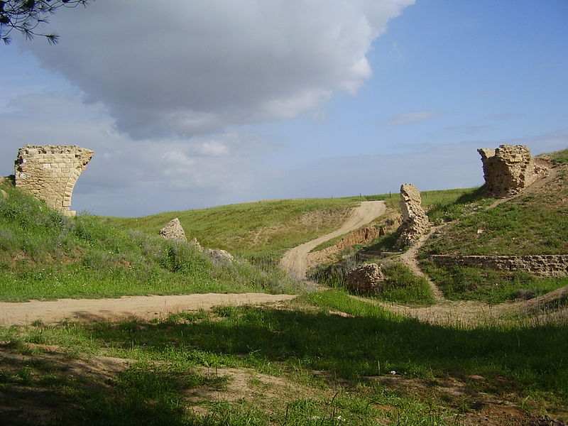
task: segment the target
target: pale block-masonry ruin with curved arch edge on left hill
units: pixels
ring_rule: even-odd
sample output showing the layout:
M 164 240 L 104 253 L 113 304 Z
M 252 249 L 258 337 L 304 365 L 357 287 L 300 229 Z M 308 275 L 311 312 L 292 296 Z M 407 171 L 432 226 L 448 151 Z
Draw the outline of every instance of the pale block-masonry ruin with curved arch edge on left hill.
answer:
M 16 187 L 31 192 L 49 207 L 68 216 L 73 188 L 94 155 L 78 146 L 28 145 L 16 158 Z

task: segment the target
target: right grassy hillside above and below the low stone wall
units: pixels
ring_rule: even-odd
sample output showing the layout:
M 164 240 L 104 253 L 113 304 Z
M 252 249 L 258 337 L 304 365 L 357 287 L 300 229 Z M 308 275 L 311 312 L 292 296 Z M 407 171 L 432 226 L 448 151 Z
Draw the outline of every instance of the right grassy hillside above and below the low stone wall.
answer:
M 482 194 L 458 219 L 422 248 L 422 266 L 451 299 L 504 302 L 530 298 L 568 285 L 568 278 L 536 278 L 527 273 L 484 268 L 442 268 L 430 254 L 530 255 L 568 253 L 568 150 L 545 155 L 552 178 L 513 200 L 487 208 Z

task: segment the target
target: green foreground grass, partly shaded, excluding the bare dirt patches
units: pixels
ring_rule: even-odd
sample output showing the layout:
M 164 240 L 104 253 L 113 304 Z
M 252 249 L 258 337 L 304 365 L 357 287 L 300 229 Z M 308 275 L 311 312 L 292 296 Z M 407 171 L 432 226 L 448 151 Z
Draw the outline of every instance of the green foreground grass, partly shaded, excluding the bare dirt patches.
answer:
M 560 408 L 568 403 L 566 337 L 565 327 L 553 325 L 432 326 L 336 290 L 306 295 L 287 310 L 223 307 L 212 313 L 173 315 L 163 322 L 0 329 L 0 340 L 24 353 L 28 343 L 51 344 L 67 348 L 72 356 L 135 361 L 112 378 L 109 388 L 92 383 L 86 388 L 81 383 L 63 386 L 54 380 L 50 395 L 65 390 L 66 401 L 77 406 L 72 412 L 75 422 L 94 425 L 337 425 L 337 416 L 344 419 L 342 425 L 373 425 L 378 419 L 391 425 L 454 425 L 464 407 L 477 406 L 467 397 L 448 400 L 393 392 L 381 385 L 388 371 L 426 383 L 457 378 L 496 398 L 516 395 L 518 401 L 528 401 L 528 407 L 539 400 Z M 213 377 L 197 373 L 197 366 L 207 367 Z M 33 364 L 21 373 L 8 367 L 0 367 L 0 392 L 15 395 L 22 386 L 45 380 Z M 193 412 L 183 395 L 200 386 L 226 386 L 223 381 L 210 383 L 216 368 L 224 367 L 280 376 L 310 386 L 312 393 L 288 401 L 266 399 L 265 405 L 210 401 L 204 405 L 208 415 L 196 414 L 200 412 Z M 45 368 L 45 373 L 53 373 L 53 368 Z M 484 381 L 473 381 L 471 375 Z M 66 380 L 75 380 L 75 375 Z

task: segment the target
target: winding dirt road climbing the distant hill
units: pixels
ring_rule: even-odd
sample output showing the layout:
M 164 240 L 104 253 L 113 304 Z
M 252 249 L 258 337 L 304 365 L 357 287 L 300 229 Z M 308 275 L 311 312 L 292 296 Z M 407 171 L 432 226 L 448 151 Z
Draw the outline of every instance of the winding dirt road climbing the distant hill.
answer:
M 385 214 L 385 212 L 386 205 L 384 201 L 361 202 L 359 207 L 356 207 L 351 211 L 349 219 L 344 222 L 341 228 L 290 249 L 284 254 L 284 257 L 280 261 L 280 266 L 294 278 L 298 280 L 305 280 L 307 272 L 307 254 L 310 253 L 312 249 L 315 249 L 325 241 L 329 241 L 337 236 L 342 236 L 347 232 L 361 228 L 361 226 L 372 222 L 377 217 Z

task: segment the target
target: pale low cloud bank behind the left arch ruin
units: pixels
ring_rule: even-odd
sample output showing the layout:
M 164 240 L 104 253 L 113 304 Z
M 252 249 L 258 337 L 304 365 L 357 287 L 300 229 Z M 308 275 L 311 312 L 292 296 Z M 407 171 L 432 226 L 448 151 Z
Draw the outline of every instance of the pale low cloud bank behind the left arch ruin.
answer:
M 97 214 L 142 215 L 246 200 L 254 193 L 261 158 L 278 145 L 244 131 L 185 139 L 133 140 L 116 131 L 101 104 L 43 93 L 11 99 L 0 111 L 0 176 L 26 144 L 75 144 L 94 158 L 81 176 L 73 207 Z M 128 200 L 128 202 L 125 202 Z

